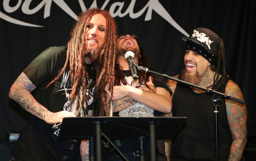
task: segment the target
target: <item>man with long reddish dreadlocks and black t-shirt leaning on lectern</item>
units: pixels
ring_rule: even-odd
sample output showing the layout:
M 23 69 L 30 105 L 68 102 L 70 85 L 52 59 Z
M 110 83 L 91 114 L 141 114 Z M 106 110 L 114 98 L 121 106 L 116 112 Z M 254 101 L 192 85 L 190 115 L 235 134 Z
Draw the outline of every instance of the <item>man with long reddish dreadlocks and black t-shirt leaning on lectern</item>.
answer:
M 58 141 L 59 124 L 109 116 L 116 40 L 109 12 L 90 9 L 79 15 L 67 46 L 46 49 L 23 70 L 9 95 L 30 114 L 12 160 L 76 161 L 80 141 Z

